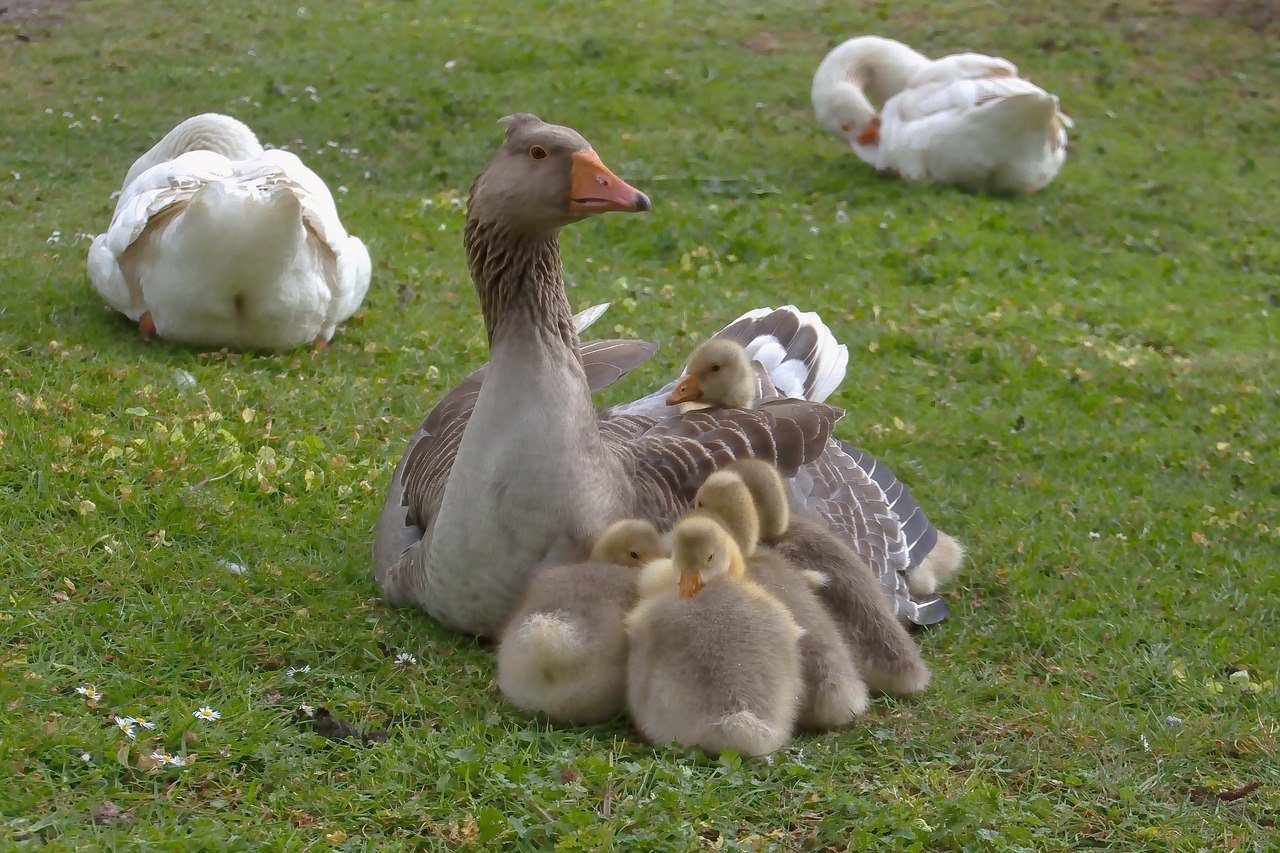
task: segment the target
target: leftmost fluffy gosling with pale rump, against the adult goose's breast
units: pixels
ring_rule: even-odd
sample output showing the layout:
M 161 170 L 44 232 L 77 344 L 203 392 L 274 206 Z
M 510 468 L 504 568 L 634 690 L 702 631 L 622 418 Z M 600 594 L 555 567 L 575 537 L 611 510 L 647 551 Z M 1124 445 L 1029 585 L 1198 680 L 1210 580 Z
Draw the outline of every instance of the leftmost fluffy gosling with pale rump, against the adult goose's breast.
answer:
M 525 711 L 553 722 L 593 724 L 622 710 L 627 640 L 622 620 L 639 569 L 666 556 L 648 521 L 614 521 L 586 562 L 548 566 L 529 588 L 498 646 L 498 685 Z

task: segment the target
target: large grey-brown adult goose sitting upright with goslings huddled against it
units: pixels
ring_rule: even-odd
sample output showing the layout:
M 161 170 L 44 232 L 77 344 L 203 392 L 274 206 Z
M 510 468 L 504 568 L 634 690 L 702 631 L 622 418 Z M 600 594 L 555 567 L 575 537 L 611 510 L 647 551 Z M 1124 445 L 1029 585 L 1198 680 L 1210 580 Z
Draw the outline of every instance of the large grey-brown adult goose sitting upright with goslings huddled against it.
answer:
M 591 538 L 618 517 L 669 529 L 703 480 L 742 456 L 771 461 L 785 476 L 804 469 L 792 483 L 797 500 L 820 507 L 814 511 L 852 540 L 878 540 L 879 553 L 896 548 L 905 570 L 910 544 L 897 521 L 858 503 L 845 478 L 867 480 L 867 473 L 828 441 L 842 412 L 814 402 L 838 384 L 847 360 L 815 315 L 762 309 L 719 333 L 776 365 L 762 383 L 810 400 L 781 398 L 771 384 L 773 398 L 753 409 L 672 414 L 672 382 L 632 403 L 591 405 L 593 391 L 654 351 L 640 341 L 584 343 L 581 318 L 570 314 L 559 231 L 611 210 L 649 210 L 649 199 L 575 131 L 527 113 L 508 119 L 504 143 L 472 184 L 463 234 L 490 361 L 410 437 L 374 537 L 384 597 L 492 635 L 531 571 L 584 558 Z M 911 601 L 905 581 L 897 592 Z M 928 599 L 915 621 L 945 619 L 946 603 Z

